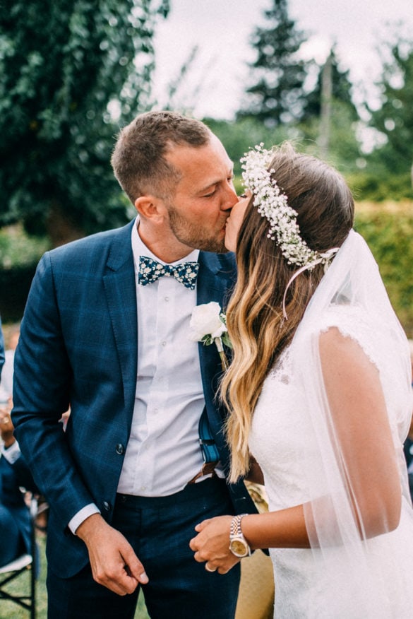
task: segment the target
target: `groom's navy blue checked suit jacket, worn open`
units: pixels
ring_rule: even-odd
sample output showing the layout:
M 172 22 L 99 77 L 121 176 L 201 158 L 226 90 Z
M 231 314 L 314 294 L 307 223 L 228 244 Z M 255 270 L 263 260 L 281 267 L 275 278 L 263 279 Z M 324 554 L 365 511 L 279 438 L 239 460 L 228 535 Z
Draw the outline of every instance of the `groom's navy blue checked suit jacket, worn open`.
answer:
M 42 257 L 32 282 L 15 358 L 13 423 L 51 511 L 48 561 L 63 577 L 88 561 L 68 521 L 95 502 L 110 523 L 131 430 L 137 372 L 134 222 Z M 200 252 L 198 304 L 225 307 L 235 278 L 231 254 Z M 205 403 L 225 466 L 224 411 L 214 401 L 220 358 L 200 344 Z M 57 423 L 71 406 L 66 432 Z M 244 483 L 230 488 L 234 511 L 255 508 Z

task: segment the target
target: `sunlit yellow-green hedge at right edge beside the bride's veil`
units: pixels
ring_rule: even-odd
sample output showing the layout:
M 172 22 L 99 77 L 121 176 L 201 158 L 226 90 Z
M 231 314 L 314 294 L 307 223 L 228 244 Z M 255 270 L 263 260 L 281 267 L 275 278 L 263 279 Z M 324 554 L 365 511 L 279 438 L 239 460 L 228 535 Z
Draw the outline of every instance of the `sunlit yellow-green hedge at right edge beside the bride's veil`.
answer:
M 369 244 L 397 317 L 413 338 L 413 204 L 360 204 L 356 229 Z

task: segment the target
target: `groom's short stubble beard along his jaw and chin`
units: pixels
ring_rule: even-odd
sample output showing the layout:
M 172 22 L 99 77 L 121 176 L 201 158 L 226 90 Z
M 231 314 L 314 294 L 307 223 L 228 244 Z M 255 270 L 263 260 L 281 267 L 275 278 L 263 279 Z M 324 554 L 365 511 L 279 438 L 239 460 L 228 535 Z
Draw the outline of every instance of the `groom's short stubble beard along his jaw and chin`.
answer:
M 169 204 L 169 225 L 177 240 L 193 249 L 202 249 L 204 252 L 213 252 L 215 254 L 226 254 L 228 252 L 225 247 L 225 238 L 222 235 L 222 228 L 218 231 L 207 230 L 201 225 L 188 222 L 186 218 L 181 216 L 174 206 Z

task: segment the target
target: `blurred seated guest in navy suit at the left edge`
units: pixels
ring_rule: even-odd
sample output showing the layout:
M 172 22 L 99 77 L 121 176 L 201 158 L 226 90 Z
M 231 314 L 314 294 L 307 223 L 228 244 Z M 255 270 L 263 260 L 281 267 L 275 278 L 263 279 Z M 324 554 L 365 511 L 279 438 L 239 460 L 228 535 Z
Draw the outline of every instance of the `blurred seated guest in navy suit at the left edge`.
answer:
M 0 408 L 0 567 L 31 554 L 30 513 L 20 486 L 35 492 L 28 466 L 13 437 L 10 410 Z

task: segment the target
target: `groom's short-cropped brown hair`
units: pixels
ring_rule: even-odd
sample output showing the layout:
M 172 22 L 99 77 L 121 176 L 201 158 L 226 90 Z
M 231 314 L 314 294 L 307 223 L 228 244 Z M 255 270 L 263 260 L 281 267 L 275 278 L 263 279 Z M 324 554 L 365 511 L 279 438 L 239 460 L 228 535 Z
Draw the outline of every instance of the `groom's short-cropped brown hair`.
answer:
M 132 204 L 148 193 L 173 195 L 181 175 L 164 155 L 173 146 L 205 146 L 211 135 L 203 122 L 177 112 L 139 114 L 119 133 L 112 153 L 114 175 Z

